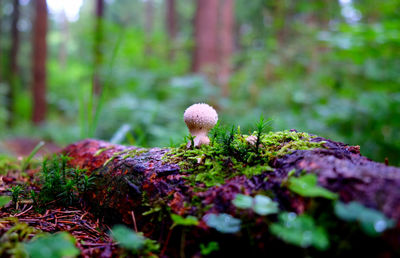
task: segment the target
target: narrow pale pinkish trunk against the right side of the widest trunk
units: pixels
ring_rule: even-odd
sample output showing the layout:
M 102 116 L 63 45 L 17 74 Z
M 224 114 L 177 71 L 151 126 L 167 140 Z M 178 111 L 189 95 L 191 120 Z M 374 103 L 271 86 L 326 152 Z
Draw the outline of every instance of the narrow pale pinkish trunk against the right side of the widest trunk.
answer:
M 222 96 L 229 95 L 229 78 L 231 75 L 231 58 L 234 45 L 234 0 L 221 0 L 219 21 L 219 71 L 218 84 L 222 90 Z

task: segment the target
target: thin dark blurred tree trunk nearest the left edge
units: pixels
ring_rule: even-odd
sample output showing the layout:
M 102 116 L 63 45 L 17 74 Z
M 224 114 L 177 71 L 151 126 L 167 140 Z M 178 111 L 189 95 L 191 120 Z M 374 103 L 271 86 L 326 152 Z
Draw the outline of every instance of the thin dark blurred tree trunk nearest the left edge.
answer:
M 10 75 L 8 83 L 8 91 L 6 96 L 6 106 L 8 111 L 7 126 L 13 125 L 15 92 L 18 79 L 18 52 L 19 52 L 19 31 L 18 21 L 20 15 L 19 0 L 13 0 L 13 13 L 11 15 L 11 53 L 10 53 Z

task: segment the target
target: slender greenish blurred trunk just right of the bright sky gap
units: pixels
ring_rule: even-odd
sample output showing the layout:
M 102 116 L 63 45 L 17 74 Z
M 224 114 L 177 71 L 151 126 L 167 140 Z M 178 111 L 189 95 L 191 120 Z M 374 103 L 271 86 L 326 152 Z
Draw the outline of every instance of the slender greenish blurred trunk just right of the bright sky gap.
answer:
M 102 89 L 102 82 L 100 78 L 100 70 L 103 64 L 103 39 L 104 39 L 104 29 L 103 29 L 103 18 L 104 18 L 104 0 L 96 0 L 96 24 L 94 31 L 94 64 L 93 64 L 93 93 L 95 95 L 100 95 Z

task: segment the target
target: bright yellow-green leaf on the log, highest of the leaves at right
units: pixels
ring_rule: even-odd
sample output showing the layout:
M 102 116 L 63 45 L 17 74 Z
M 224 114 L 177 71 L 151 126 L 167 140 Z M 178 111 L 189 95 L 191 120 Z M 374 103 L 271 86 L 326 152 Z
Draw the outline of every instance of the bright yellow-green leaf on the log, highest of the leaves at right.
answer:
M 317 185 L 317 176 L 307 174 L 301 177 L 289 178 L 289 189 L 304 197 L 323 197 L 337 199 L 338 195 Z

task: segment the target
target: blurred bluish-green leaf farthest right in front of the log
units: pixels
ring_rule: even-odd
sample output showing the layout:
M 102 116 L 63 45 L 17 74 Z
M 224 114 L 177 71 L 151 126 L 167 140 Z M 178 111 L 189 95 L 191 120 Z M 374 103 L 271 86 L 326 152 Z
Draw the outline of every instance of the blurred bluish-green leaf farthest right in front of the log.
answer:
M 380 211 L 367 208 L 358 202 L 337 202 L 335 214 L 345 221 L 358 221 L 364 232 L 370 236 L 377 236 L 395 226 L 395 222 Z

